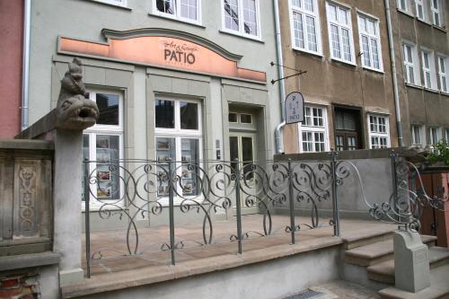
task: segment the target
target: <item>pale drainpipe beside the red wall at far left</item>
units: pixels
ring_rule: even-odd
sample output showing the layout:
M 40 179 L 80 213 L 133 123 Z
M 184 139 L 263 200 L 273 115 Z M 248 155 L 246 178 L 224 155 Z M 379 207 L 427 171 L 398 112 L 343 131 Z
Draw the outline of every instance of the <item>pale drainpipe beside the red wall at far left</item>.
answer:
M 31 0 L 23 1 L 23 57 L 22 57 L 22 120 L 21 128 L 28 128 L 28 87 L 30 80 Z

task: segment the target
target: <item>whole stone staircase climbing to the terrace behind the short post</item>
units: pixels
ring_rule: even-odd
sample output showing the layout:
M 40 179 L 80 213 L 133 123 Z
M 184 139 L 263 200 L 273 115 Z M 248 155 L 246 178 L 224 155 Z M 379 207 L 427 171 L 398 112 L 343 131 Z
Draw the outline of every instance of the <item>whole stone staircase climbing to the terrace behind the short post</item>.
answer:
M 449 249 L 436 247 L 436 237 L 421 235 L 428 246 L 431 286 L 412 294 L 394 287 L 392 229 L 343 236 L 343 277 L 378 290 L 382 298 L 449 298 Z

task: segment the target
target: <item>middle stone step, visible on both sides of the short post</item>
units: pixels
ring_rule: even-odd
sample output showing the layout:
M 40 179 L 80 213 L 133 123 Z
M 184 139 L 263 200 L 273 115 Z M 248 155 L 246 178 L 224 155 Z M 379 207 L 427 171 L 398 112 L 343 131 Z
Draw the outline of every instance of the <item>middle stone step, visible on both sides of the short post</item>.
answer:
M 430 247 L 428 249 L 428 259 L 431 269 L 449 264 L 449 249 L 436 246 Z M 369 279 L 394 285 L 394 259 L 370 266 L 366 270 Z M 446 277 L 447 281 L 449 281 L 448 277 Z

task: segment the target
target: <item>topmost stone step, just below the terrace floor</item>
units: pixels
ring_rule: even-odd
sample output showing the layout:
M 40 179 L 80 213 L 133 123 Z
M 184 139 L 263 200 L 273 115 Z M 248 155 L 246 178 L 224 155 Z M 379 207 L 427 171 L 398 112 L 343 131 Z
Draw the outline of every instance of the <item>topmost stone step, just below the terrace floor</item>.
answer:
M 421 235 L 423 243 L 428 247 L 434 246 L 436 236 Z M 352 250 L 345 251 L 345 261 L 349 264 L 359 266 L 373 266 L 393 257 L 393 241 L 392 239 L 375 242 L 373 244 L 360 246 Z

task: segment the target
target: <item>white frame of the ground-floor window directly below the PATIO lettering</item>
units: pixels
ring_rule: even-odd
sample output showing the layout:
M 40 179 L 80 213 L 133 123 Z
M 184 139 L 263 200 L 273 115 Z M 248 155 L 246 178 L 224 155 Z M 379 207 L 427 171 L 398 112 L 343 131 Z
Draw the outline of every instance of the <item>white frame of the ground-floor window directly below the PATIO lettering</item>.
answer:
M 203 161 L 203 123 L 202 123 L 202 102 L 198 100 L 184 99 L 175 96 L 165 96 L 165 95 L 155 95 L 155 101 L 173 101 L 174 102 L 174 128 L 156 128 L 155 126 L 155 118 L 154 118 L 154 141 L 157 138 L 174 138 L 176 145 L 176 161 L 175 169 L 178 171 L 177 175 L 182 177 L 182 167 L 181 166 L 181 156 L 182 156 L 182 142 L 181 139 L 198 139 L 198 166 L 202 167 Z M 195 129 L 182 129 L 180 128 L 180 102 L 192 102 L 198 104 L 198 130 Z M 157 150 L 154 148 L 154 160 L 157 160 Z M 182 193 L 182 189 L 180 185 L 177 184 L 178 193 Z M 180 205 L 185 198 L 197 198 L 196 196 L 184 196 L 179 197 L 174 193 L 173 203 L 175 205 Z M 198 201 L 196 199 L 196 201 Z M 169 198 L 166 197 L 158 197 L 158 202 L 160 202 L 164 207 L 169 205 Z

